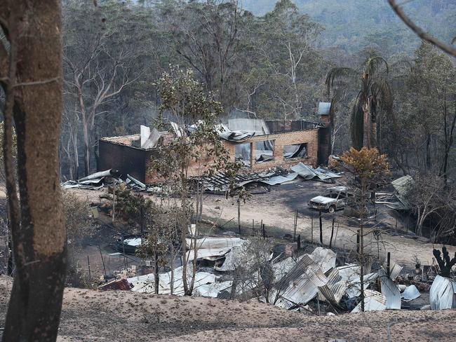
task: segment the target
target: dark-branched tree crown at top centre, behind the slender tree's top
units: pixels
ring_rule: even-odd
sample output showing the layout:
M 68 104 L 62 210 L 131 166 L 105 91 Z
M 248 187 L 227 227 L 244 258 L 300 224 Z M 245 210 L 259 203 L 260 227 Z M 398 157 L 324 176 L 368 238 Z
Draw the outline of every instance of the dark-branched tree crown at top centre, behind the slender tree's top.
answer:
M 253 15 L 237 1 L 163 1 L 163 42 L 198 75 L 229 111 L 236 102 L 243 62 L 241 44 Z

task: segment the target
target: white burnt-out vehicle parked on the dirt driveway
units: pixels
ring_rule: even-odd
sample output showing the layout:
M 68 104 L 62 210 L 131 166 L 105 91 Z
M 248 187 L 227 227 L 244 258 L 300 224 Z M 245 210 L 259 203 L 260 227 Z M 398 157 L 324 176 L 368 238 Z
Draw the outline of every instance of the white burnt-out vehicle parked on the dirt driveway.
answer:
M 328 210 L 333 213 L 354 203 L 354 193 L 347 186 L 333 186 L 326 189 L 321 196 L 309 200 L 309 207 L 318 210 Z

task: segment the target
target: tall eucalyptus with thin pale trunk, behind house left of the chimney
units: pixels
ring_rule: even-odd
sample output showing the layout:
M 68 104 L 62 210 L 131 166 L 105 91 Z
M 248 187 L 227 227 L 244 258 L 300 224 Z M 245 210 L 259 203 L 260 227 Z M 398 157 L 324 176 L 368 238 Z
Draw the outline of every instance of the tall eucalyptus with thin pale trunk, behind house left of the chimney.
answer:
M 253 84 L 259 79 L 263 83 L 257 92 L 258 111 L 264 116 L 300 118 L 305 114 L 304 103 L 315 102 L 321 62 L 315 43 L 323 27 L 300 13 L 290 0 L 277 2 L 273 11 L 254 24 L 257 78 Z

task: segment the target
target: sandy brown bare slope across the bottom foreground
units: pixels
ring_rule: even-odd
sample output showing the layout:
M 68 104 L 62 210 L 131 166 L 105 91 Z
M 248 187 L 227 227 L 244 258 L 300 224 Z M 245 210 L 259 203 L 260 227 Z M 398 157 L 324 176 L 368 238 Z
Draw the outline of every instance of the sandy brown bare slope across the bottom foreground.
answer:
M 11 285 L 0 276 L 0 322 Z M 388 341 L 388 329 L 390 341 L 456 338 L 456 310 L 316 316 L 256 301 L 74 288 L 65 289 L 60 320 L 60 342 Z

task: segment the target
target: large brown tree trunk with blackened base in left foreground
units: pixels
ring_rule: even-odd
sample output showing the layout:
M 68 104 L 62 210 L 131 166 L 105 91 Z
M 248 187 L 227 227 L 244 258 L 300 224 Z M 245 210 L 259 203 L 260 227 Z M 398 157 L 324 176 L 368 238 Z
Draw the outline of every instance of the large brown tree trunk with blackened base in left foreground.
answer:
M 65 281 L 65 222 L 58 178 L 62 113 L 60 0 L 2 0 L 0 46 L 6 90 L 5 128 L 13 111 L 18 138 L 15 175 L 5 157 L 16 274 L 4 341 L 55 341 Z M 8 105 L 9 104 L 9 105 Z M 11 147 L 9 147 L 11 152 Z M 6 147 L 8 150 L 8 146 Z M 20 208 L 20 209 L 19 209 Z

